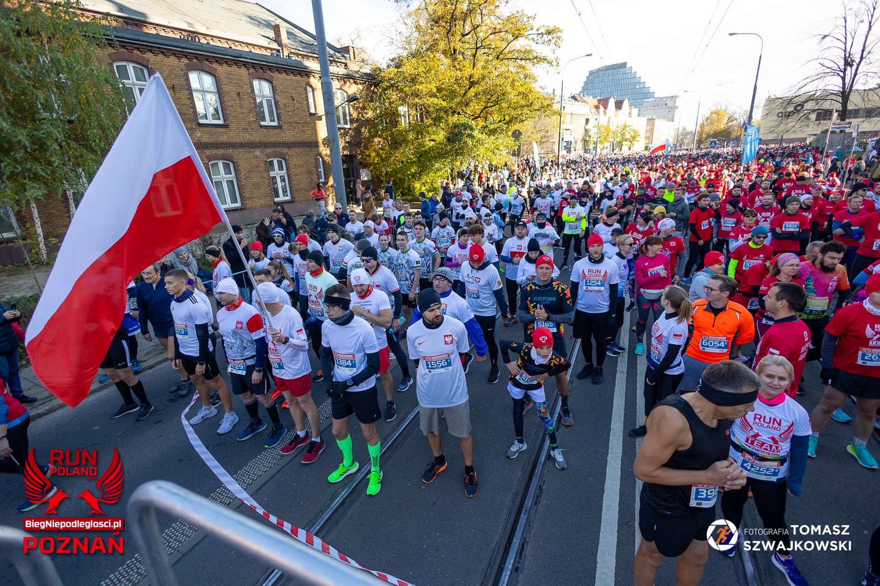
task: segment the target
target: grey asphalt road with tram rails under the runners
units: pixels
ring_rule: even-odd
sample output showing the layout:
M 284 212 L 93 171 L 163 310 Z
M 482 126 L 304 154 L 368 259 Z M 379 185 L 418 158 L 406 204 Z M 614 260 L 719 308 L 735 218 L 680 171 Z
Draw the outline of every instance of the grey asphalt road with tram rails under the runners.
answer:
M 568 274 L 563 272 L 563 278 Z M 627 349 L 635 343 L 628 326 L 635 314 L 627 314 Z M 499 338 L 522 338 L 521 326 L 499 327 Z M 573 340 L 568 337 L 568 349 Z M 311 352 L 310 352 L 311 355 Z M 318 368 L 312 358 L 312 365 Z M 583 365 L 576 354 L 575 371 Z M 411 369 L 414 372 L 414 369 Z M 368 568 L 395 575 L 416 585 L 486 583 L 488 568 L 504 552 L 510 525 L 519 515 L 524 487 L 530 478 L 529 455 L 539 451 L 544 432 L 533 411 L 525 417 L 527 452 L 517 459 L 504 454 L 513 439 L 510 396 L 503 378 L 488 385 L 487 363 L 472 363 L 468 373 L 474 435 L 474 467 L 480 480 L 480 494 L 466 498 L 463 487 L 464 464 L 454 438 L 444 438 L 444 453 L 450 466 L 437 480 L 421 481 L 431 459 L 426 439 L 418 429 L 418 418 L 405 426 L 415 407 L 415 387 L 395 397 L 398 417 L 391 423 L 380 421 L 380 437 L 395 430 L 400 437 L 383 454 L 384 480 L 376 497 L 367 497 L 366 483 L 358 483 L 339 510 L 326 519 L 319 530 L 321 538 Z M 605 380 L 594 386 L 590 380 L 576 380 L 571 373 L 572 413 L 575 424 L 558 428 L 559 441 L 568 459 L 568 469 L 557 470 L 546 462 L 539 476 L 539 490 L 527 519 L 524 539 L 513 561 L 510 583 L 534 584 L 561 581 L 578 584 L 631 584 L 632 560 L 638 544 L 638 482 L 632 464 L 638 443 L 627 437 L 627 430 L 642 421 L 642 383 L 644 358 L 629 353 L 605 361 Z M 400 371 L 392 362 L 395 384 Z M 808 410 L 818 402 L 818 365 L 806 370 L 808 393 L 798 397 Z M 168 394 L 176 380 L 170 366 L 143 373 L 142 380 L 157 409 L 143 422 L 133 416 L 108 418 L 119 404 L 119 396 L 107 389 L 86 399 L 77 409 L 60 409 L 34 421 L 30 428 L 32 445 L 41 459 L 49 449 L 86 448 L 99 451 L 98 467 L 106 469 L 112 448 L 122 459 L 125 488 L 121 503 L 106 505 L 111 516 L 125 517 L 125 507 L 134 489 L 146 481 L 163 479 L 230 506 L 243 515 L 261 519 L 222 488 L 214 474 L 189 445 L 180 423 L 183 399 Z M 326 400 L 321 384 L 313 396 Z M 548 399 L 554 383 L 548 385 Z M 381 391 L 380 391 L 381 397 Z M 261 438 L 237 442 L 244 429 L 246 412 L 240 401 L 235 409 L 242 422 L 231 434 L 216 435 L 217 416 L 196 426 L 199 437 L 216 459 L 245 487 L 265 509 L 293 525 L 309 528 L 321 517 L 346 482 L 326 482 L 338 464 L 340 452 L 328 427 L 322 437 L 328 442 L 318 462 L 304 466 L 297 452 L 282 457 L 277 450 L 265 450 Z M 854 414 L 851 405 L 845 408 Z M 194 415 L 194 409 L 189 416 Z M 265 418 L 265 415 L 264 415 Z M 290 429 L 290 416 L 282 413 Z M 323 423 L 329 425 L 329 420 Z M 365 442 L 356 423 L 351 426 L 355 456 L 369 465 Z M 822 434 L 818 458 L 810 459 L 804 479 L 803 496 L 790 497 L 788 524 L 849 525 L 848 536 L 825 537 L 851 541 L 845 552 L 796 553 L 796 561 L 812 584 L 856 584 L 866 566 L 870 533 L 880 523 L 876 513 L 877 472 L 859 467 L 845 446 L 852 438 L 852 423 L 831 422 Z M 872 451 L 880 456 L 880 443 L 872 440 Z M 85 503 L 77 498 L 90 482 L 65 478 L 58 481 L 71 496 L 62 503 L 63 516 L 85 516 Z M 93 489 L 93 487 L 91 487 Z M 23 500 L 20 479 L 0 478 L 4 506 L 0 525 L 21 527 L 15 510 Z M 40 509 L 41 510 L 41 509 Z M 716 508 L 721 516 L 720 508 Z M 759 526 L 753 505 L 746 508 L 745 526 Z M 159 527 L 172 554 L 173 568 L 181 583 L 258 584 L 271 568 L 235 552 L 206 532 L 197 531 L 176 519 L 159 514 Z M 282 533 L 280 533 L 282 534 Z M 124 554 L 54 555 L 52 560 L 65 584 L 146 583 L 143 566 L 136 556 L 131 532 Z M 806 539 L 798 537 L 796 539 Z M 784 584 L 781 573 L 769 563 L 768 553 L 742 552 L 734 559 L 711 552 L 701 583 L 705 584 Z M 22 583 L 6 562 L 2 583 Z M 752 577 L 747 573 L 751 572 Z M 674 571 L 667 562 L 657 575 L 657 584 L 673 584 Z

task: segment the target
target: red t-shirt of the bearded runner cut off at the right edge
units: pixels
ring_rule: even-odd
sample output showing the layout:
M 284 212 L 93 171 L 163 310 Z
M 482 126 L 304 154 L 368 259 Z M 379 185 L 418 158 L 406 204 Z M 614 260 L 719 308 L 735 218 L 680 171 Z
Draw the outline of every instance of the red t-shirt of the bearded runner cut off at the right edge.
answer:
M 880 378 L 880 309 L 868 300 L 841 307 L 825 331 L 839 338 L 834 347 L 834 368 Z

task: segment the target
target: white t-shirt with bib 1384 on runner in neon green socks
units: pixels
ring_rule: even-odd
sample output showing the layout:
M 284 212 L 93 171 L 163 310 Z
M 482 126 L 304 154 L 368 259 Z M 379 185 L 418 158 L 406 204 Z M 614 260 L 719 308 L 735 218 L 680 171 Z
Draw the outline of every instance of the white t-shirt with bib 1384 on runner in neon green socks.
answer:
M 338 326 L 327 320 L 321 326 L 321 345 L 333 351 L 333 380 L 348 380 L 367 367 L 367 354 L 379 351 L 373 327 L 355 315 L 346 326 Z M 365 391 L 376 384 L 371 376 L 359 385 L 348 387 L 353 393 Z

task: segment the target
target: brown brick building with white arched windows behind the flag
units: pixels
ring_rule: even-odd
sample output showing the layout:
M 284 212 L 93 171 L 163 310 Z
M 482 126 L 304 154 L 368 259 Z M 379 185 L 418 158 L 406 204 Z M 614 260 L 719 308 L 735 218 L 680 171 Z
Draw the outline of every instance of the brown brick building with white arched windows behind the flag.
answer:
M 301 214 L 319 181 L 333 197 L 315 37 L 245 0 L 83 0 L 114 19 L 114 40 L 100 59 L 120 78 L 129 107 L 160 73 L 233 223 L 253 224 L 276 203 Z M 357 104 L 346 103 L 370 74 L 354 47 L 327 46 L 349 199 L 361 177 Z M 49 248 L 60 242 L 77 195 L 38 204 Z M 33 214 L 18 214 L 18 228 Z M 0 264 L 23 260 L 0 217 Z

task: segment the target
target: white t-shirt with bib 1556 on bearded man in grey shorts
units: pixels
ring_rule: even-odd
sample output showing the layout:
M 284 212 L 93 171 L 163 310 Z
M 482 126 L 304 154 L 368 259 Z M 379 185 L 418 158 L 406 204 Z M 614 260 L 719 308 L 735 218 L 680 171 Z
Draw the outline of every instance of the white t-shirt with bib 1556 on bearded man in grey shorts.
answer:
M 459 353 L 471 347 L 465 324 L 446 315 L 436 329 L 422 320 L 407 328 L 409 358 L 419 361 L 415 392 L 419 405 L 441 409 L 467 401 L 467 382 Z

